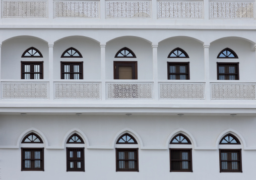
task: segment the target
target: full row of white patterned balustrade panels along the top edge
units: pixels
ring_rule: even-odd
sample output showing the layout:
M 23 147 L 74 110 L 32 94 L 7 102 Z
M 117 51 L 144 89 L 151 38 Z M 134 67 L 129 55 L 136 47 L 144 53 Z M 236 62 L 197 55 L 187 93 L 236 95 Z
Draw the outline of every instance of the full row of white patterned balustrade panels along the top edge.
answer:
M 254 19 L 252 1 L 209 1 L 209 19 Z M 105 1 L 105 14 L 100 15 L 100 1 L 2 1 L 3 18 L 141 18 L 150 19 L 203 19 L 204 1 Z M 49 7 L 48 7 L 49 6 Z M 153 9 L 156 9 L 153 11 Z M 53 11 L 53 12 L 52 12 Z M 207 16 L 208 18 L 208 16 Z

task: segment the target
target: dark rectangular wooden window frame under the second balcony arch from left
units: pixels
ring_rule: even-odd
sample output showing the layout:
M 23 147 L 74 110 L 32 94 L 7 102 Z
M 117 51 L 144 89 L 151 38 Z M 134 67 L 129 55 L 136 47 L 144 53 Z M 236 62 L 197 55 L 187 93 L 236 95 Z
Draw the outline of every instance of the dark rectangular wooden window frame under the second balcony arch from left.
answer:
M 64 65 L 70 65 L 70 72 L 69 73 L 64 72 Z M 79 73 L 74 73 L 74 66 L 72 66 L 72 65 L 80 65 L 79 66 Z M 84 62 L 83 61 L 79 61 L 79 62 L 60 61 L 60 79 L 64 79 L 65 74 L 70 74 L 70 80 L 71 79 L 74 80 L 74 74 L 80 74 L 79 79 L 84 79 L 83 69 L 84 69 Z M 73 71 L 71 71 L 71 70 L 73 70 Z

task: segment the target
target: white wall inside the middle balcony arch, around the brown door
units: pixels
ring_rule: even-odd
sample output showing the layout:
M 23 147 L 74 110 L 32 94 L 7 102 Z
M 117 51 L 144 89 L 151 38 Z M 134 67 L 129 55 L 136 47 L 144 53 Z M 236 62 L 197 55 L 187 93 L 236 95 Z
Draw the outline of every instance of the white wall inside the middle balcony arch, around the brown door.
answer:
M 131 49 L 136 58 L 114 58 L 121 48 Z M 153 78 L 153 59 L 151 44 L 136 37 L 121 37 L 106 44 L 106 79 L 114 79 L 113 61 L 137 61 L 138 80 Z

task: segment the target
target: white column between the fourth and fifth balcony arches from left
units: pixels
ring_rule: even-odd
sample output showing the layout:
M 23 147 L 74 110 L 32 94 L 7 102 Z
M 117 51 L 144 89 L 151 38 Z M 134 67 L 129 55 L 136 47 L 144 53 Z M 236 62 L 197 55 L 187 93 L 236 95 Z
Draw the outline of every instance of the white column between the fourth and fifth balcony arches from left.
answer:
M 204 60 L 205 60 L 205 98 L 207 101 L 211 100 L 210 90 L 210 58 L 209 58 L 210 45 L 204 44 Z

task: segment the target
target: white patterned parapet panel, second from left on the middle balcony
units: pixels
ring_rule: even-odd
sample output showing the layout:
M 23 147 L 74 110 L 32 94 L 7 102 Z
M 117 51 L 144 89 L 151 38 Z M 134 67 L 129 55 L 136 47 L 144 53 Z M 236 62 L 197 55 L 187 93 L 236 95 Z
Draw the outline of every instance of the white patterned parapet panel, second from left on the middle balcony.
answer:
M 99 82 L 54 82 L 55 99 L 101 99 Z

